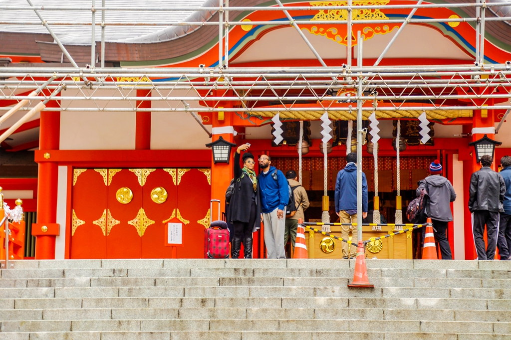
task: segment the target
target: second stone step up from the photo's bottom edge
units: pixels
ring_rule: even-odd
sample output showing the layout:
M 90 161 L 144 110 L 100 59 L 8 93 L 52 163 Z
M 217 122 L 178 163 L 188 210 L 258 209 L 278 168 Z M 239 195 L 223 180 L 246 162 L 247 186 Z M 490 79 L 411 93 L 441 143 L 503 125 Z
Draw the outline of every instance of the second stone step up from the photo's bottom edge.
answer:
M 273 319 L 156 319 L 156 320 L 38 320 L 3 321 L 4 332 L 71 331 L 356 331 L 425 333 L 511 333 L 511 323 L 480 321 L 400 320 L 273 320 Z

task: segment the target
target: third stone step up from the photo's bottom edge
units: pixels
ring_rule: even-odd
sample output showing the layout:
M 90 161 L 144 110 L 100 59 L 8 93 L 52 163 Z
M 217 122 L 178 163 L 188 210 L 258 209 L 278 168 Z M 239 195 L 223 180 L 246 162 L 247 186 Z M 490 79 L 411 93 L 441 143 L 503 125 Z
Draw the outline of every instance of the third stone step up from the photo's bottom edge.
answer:
M 59 308 L 0 309 L 2 321 L 36 320 L 396 320 L 511 322 L 509 311 L 385 308 Z

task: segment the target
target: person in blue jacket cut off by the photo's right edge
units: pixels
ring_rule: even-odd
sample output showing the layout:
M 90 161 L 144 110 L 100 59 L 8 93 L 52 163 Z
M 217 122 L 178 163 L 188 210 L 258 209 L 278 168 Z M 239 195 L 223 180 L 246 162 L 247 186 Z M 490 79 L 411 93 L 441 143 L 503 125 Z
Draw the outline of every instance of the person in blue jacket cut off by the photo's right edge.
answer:
M 511 260 L 509 247 L 511 247 L 511 156 L 504 156 L 500 159 L 503 169 L 500 176 L 506 184 L 504 193 L 504 212 L 499 216 L 499 235 L 497 236 L 497 247 L 501 260 Z

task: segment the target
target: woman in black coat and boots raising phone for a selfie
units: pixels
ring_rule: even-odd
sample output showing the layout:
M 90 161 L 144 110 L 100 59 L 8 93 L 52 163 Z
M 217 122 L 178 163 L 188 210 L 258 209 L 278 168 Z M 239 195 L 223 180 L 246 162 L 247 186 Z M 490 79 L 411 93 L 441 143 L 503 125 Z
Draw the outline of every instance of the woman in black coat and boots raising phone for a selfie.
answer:
M 234 238 L 231 258 L 240 256 L 241 242 L 245 249 L 245 258 L 252 258 L 252 233 L 261 228 L 261 199 L 254 172 L 255 161 L 251 153 L 243 154 L 243 168 L 240 166 L 241 151 L 249 145 L 238 147 L 234 154 L 234 190 L 230 198 L 227 221 L 234 226 Z

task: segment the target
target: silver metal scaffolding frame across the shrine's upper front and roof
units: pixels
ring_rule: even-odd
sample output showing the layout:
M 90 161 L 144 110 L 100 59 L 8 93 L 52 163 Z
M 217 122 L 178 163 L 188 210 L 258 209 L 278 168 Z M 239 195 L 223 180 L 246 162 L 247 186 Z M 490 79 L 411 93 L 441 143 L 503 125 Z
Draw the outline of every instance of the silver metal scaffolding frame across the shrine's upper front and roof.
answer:
M 225 1 L 225 4 L 224 4 Z M 475 3 L 459 4 L 422 4 L 422 0 L 414 5 L 354 5 L 352 0 L 346 0 L 346 6 L 286 6 L 276 0 L 273 7 L 236 7 L 229 6 L 228 0 L 220 0 L 218 7 L 199 8 L 139 8 L 139 7 L 105 7 L 102 0 L 101 7 L 96 7 L 96 0 L 91 0 L 91 7 L 62 6 L 41 7 L 34 6 L 27 0 L 27 7 L 2 6 L 0 10 L 28 10 L 34 11 L 39 22 L 9 21 L 0 22 L 0 25 L 41 25 L 59 45 L 62 53 L 72 63 L 73 67 L 23 67 L 22 65 L 0 68 L 0 100 L 34 101 L 33 96 L 19 94 L 30 90 L 37 90 L 44 80 L 52 80 L 47 85 L 50 91 L 65 86 L 67 91 L 75 90 L 76 95 L 66 95 L 65 91 L 59 97 L 60 108 L 51 110 L 60 111 L 162 111 L 162 112 L 268 112 L 274 111 L 297 112 L 304 111 L 298 102 L 309 102 L 308 111 L 348 111 L 354 112 L 358 102 L 377 103 L 385 101 L 388 105 L 385 110 L 480 110 L 480 109 L 511 109 L 509 105 L 494 105 L 493 100 L 508 102 L 511 99 L 511 61 L 503 64 L 487 64 L 484 61 L 484 35 L 486 21 L 505 21 L 510 17 L 486 17 L 485 10 L 489 5 L 477 0 Z M 508 6 L 507 2 L 491 3 L 492 7 Z M 410 9 L 410 13 L 403 19 L 389 20 L 356 20 L 353 9 Z M 427 8 L 475 8 L 475 17 L 426 19 L 413 18 L 417 9 Z M 44 19 L 44 11 L 66 10 L 91 12 L 90 22 L 85 20 L 77 22 L 49 22 Z M 195 68 L 105 68 L 105 30 L 110 26 L 161 26 L 149 22 L 115 23 L 105 21 L 105 12 L 108 11 L 217 11 L 218 20 L 204 22 L 175 22 L 165 26 L 218 26 L 218 67 Z M 310 10 L 342 10 L 346 11 L 346 20 L 295 20 L 290 11 Z M 96 22 L 96 12 L 101 11 L 101 22 Z M 250 25 L 291 25 L 306 42 L 320 67 L 236 67 L 229 64 L 229 29 L 239 25 L 247 25 L 246 21 L 229 21 L 229 11 L 282 11 L 287 20 L 278 21 L 250 21 Z M 83 16 L 83 19 L 86 15 Z M 92 23 L 95 25 L 92 25 Z M 385 57 L 386 52 L 396 41 L 398 35 L 409 23 L 431 22 L 471 22 L 475 27 L 476 51 L 474 63 L 470 65 L 433 65 L 433 66 L 378 66 Z M 347 36 L 354 32 L 353 24 L 372 23 L 400 23 L 401 27 L 383 49 L 380 57 L 373 66 L 352 66 L 351 39 L 348 39 L 347 65 L 329 67 L 323 61 L 314 46 L 308 41 L 300 26 L 321 24 L 347 25 Z M 91 26 L 91 66 L 79 67 L 65 46 L 52 32 L 50 26 L 75 25 Z M 101 67 L 98 63 L 95 45 L 95 27 L 101 27 Z M 136 81 L 129 81 L 136 79 Z M 361 91 L 357 94 L 358 89 Z M 135 89 L 151 88 L 152 96 L 136 96 Z M 113 94 L 105 94 L 104 90 L 114 90 Z M 110 91 L 111 92 L 111 91 Z M 350 95 L 338 93 L 347 92 Z M 184 93 L 184 94 L 183 94 Z M 49 99 L 49 95 L 39 93 L 38 100 Z M 453 104 L 453 101 L 464 100 L 464 104 Z M 91 102 L 83 107 L 77 107 L 74 102 Z M 109 107 L 109 103 L 127 101 L 129 107 Z M 134 104 L 136 101 L 162 101 L 168 104 L 165 108 L 140 108 Z M 183 105 L 183 102 L 200 102 L 201 107 Z M 232 108 L 219 107 L 220 102 L 236 103 Z M 271 102 L 272 105 L 263 105 L 262 102 Z M 65 104 L 62 104 L 65 103 Z M 370 104 L 368 103 L 368 104 Z M 505 104 L 505 103 L 504 103 Z M 377 104 L 378 105 L 378 104 Z M 0 111 L 8 110 L 1 107 Z M 195 105 L 197 106 L 197 105 Z M 275 109 L 271 106 L 278 106 Z M 20 110 L 31 110 L 30 105 L 22 106 Z M 373 105 L 361 107 L 362 111 L 373 111 Z

